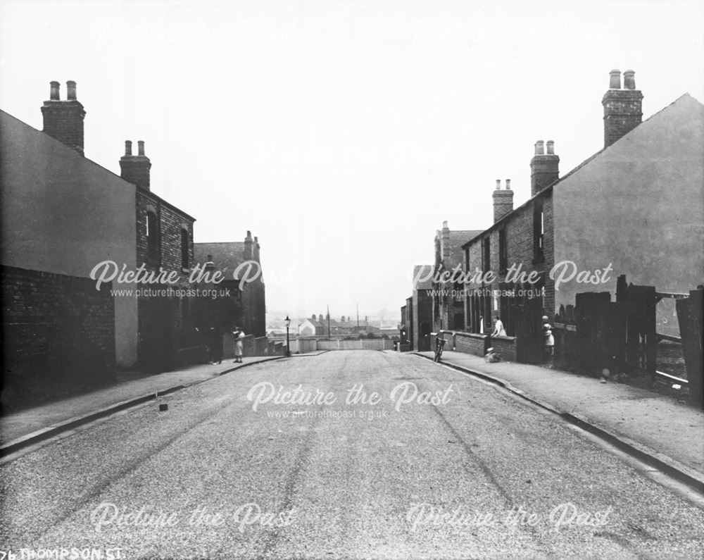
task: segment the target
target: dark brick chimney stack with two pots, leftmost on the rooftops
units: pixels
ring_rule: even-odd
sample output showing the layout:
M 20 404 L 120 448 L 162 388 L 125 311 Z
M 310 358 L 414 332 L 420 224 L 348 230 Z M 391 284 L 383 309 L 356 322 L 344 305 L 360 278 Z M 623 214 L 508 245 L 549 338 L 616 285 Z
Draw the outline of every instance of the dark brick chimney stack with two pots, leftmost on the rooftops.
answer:
M 66 82 L 68 97 L 61 101 L 58 82 L 50 82 L 49 101 L 44 101 L 44 132 L 83 155 L 83 119 L 86 112 L 76 99 L 76 82 Z

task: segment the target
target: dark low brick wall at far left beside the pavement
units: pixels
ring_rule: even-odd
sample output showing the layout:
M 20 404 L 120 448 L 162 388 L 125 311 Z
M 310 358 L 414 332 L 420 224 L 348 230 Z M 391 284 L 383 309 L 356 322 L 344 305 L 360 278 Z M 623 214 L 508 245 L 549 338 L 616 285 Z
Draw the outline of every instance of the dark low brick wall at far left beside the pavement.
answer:
M 115 307 L 111 285 L 94 280 L 1 267 L 6 384 L 26 389 L 49 377 L 56 389 L 99 384 L 115 368 Z M 50 387 L 51 385 L 51 387 Z M 20 391 L 21 392 L 21 391 Z

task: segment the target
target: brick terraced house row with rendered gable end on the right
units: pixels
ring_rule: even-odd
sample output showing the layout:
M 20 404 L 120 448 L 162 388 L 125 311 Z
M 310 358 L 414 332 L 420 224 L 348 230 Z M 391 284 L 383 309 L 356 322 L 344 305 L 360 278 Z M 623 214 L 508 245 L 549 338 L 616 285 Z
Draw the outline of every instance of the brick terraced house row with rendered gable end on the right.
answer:
M 518 309 L 553 317 L 581 292 L 615 293 L 620 275 L 681 293 L 704 278 L 704 106 L 684 94 L 642 121 L 634 71 L 621 77 L 602 99 L 603 149 L 560 176 L 554 142 L 536 142 L 517 208 L 496 182 L 494 224 L 463 245 L 465 270 L 496 277 L 465 299 L 470 332 L 498 315 L 513 335 Z M 658 304 L 658 332 L 672 328 L 674 306 Z

